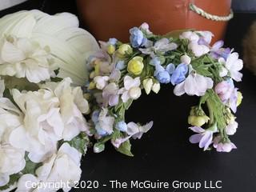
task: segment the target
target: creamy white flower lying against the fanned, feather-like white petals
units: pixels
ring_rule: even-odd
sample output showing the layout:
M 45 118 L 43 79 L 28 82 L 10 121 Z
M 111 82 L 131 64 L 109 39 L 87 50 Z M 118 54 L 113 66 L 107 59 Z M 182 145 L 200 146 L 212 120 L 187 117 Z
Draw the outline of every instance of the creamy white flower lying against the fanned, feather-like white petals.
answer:
M 54 77 L 57 70 L 49 47 L 41 47 L 28 38 L 8 36 L 0 43 L 0 75 L 27 78 L 29 82 L 42 82 Z

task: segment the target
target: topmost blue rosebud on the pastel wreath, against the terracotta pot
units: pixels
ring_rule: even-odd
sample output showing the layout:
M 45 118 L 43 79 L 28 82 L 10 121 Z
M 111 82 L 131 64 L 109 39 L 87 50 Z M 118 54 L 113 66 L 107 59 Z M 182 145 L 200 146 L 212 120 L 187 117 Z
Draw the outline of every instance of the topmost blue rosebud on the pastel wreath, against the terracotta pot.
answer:
M 147 39 L 144 37 L 144 34 L 138 27 L 130 29 L 130 43 L 134 48 L 142 46 L 145 44 Z

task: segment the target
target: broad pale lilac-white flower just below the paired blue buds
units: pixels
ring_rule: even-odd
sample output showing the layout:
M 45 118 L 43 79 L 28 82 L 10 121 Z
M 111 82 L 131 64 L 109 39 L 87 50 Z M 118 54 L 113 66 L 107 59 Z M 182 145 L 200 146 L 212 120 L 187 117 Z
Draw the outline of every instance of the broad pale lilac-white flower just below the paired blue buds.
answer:
M 211 89 L 213 86 L 214 82 L 211 78 L 191 73 L 184 82 L 175 86 L 174 94 L 181 96 L 186 93 L 188 95 L 202 96 L 206 94 L 206 90 Z

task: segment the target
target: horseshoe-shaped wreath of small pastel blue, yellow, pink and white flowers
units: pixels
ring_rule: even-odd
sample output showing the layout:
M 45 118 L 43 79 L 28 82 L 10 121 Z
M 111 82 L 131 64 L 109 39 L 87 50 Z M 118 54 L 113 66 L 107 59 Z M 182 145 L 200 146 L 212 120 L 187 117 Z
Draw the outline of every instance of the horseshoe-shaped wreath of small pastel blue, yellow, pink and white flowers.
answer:
M 209 31 L 173 32 L 155 35 L 143 23 L 130 30 L 130 43 L 110 38 L 100 42 L 101 50 L 90 56 L 87 85 L 90 102 L 94 103 L 92 134 L 97 139 L 94 152 L 105 149 L 111 141 L 116 150 L 132 156 L 130 138 L 141 138 L 153 126 L 149 122 L 125 122 L 125 113 L 142 90 L 158 94 L 161 84 L 174 87 L 174 94 L 200 97 L 192 106 L 188 122 L 194 135 L 191 143 L 203 150 L 213 146 L 219 152 L 236 149 L 230 142 L 238 122 L 234 113 L 242 102 L 242 94 L 234 81 L 242 80 L 243 62 L 223 42 L 210 46 Z M 206 105 L 208 110 L 203 110 Z M 204 108 L 205 109 L 205 108 Z

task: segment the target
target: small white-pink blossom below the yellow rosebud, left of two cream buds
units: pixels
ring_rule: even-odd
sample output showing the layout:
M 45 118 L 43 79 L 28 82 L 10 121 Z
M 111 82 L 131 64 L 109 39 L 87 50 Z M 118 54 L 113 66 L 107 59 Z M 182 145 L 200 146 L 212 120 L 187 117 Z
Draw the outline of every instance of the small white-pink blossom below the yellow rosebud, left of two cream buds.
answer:
M 142 90 L 139 87 L 141 85 L 141 80 L 139 77 L 131 78 L 127 75 L 123 82 L 124 88 L 119 90 L 119 94 L 122 94 L 122 102 L 127 102 L 130 98 L 135 100 L 141 96 Z

